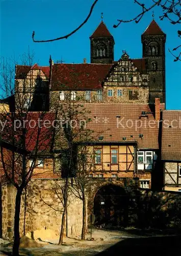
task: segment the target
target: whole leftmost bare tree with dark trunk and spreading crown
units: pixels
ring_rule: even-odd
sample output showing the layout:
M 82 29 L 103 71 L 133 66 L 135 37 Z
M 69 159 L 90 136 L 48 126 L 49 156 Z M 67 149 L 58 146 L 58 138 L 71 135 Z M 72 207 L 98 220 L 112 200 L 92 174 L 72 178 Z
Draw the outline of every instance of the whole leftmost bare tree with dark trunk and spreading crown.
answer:
M 21 195 L 30 182 L 38 158 L 50 151 L 53 129 L 49 129 L 38 120 L 54 119 L 54 113 L 46 111 L 32 112 L 34 99 L 47 82 L 40 76 L 34 77 L 32 67 L 33 57 L 30 53 L 23 55 L 22 66 L 13 67 L 10 60 L 1 61 L 1 90 L 4 96 L 2 102 L 5 108 L 1 114 L 1 161 L 3 165 L 3 179 L 16 188 L 14 215 L 14 243 L 13 255 L 19 255 L 19 219 Z M 18 70 L 17 70 L 18 69 Z M 19 72 L 19 74 L 18 74 Z M 14 83 L 14 78 L 15 83 Z M 18 79 L 20 78 L 20 79 Z M 41 92 L 42 93 L 42 92 Z M 30 163 L 31 159 L 31 163 Z

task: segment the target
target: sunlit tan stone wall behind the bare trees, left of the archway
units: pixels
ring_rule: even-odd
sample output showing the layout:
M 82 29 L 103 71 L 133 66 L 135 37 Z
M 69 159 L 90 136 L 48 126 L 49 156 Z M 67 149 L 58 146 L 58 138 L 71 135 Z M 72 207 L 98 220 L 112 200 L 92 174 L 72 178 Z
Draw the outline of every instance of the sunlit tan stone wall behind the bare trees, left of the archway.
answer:
M 55 186 L 58 189 L 55 191 Z M 20 210 L 20 236 L 41 228 L 60 232 L 62 220 L 61 180 L 36 179 L 23 191 Z M 13 238 L 16 189 L 11 184 L 2 187 L 3 238 Z M 25 216 L 25 218 L 24 218 Z M 71 195 L 67 209 L 68 236 L 82 231 L 82 201 Z

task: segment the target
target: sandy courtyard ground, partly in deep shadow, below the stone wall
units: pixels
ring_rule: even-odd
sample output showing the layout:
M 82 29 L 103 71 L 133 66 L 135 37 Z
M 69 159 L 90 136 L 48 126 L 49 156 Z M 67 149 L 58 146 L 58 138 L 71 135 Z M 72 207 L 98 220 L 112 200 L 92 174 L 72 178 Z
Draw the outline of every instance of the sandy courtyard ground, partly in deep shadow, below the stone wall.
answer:
M 51 237 L 51 236 L 50 236 Z M 52 238 L 52 237 L 51 237 Z M 146 256 L 181 256 L 181 236 L 173 232 L 153 230 L 92 230 L 93 241 L 81 241 L 77 239 L 64 238 L 64 245 L 57 245 L 58 240 L 49 239 L 49 242 L 36 241 L 41 244 L 40 248 L 20 248 L 20 255 L 70 255 L 70 256 L 93 256 L 93 255 L 121 255 L 130 256 L 134 254 L 146 254 Z M 90 239 L 90 230 L 87 234 Z M 40 241 L 41 240 L 41 241 Z M 6 244 L 5 244 L 6 243 Z M 12 247 L 2 241 L 0 255 L 11 255 Z

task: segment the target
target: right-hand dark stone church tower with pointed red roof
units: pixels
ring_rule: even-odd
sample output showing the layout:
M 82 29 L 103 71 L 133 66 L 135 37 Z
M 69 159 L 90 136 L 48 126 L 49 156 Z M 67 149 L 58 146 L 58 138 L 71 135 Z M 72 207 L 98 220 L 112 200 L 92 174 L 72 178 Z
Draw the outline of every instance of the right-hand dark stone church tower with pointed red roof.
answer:
M 153 19 L 141 36 L 143 58 L 149 74 L 149 102 L 160 98 L 165 102 L 165 41 L 166 34 Z

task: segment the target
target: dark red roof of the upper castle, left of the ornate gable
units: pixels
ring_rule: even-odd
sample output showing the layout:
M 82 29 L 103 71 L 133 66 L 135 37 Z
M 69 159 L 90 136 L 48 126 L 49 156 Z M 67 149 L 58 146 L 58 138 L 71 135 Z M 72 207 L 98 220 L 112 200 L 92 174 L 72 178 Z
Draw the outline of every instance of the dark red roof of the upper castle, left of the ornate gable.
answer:
M 98 90 L 111 64 L 54 64 L 51 90 Z

